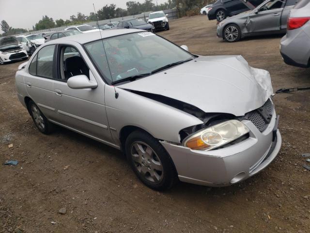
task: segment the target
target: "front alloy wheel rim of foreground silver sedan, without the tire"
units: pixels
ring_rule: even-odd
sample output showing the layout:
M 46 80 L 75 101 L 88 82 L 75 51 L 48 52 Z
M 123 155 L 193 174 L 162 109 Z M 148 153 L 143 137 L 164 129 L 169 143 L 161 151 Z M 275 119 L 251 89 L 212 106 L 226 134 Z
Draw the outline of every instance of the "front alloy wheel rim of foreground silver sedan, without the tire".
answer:
M 144 142 L 134 142 L 130 153 L 140 175 L 151 183 L 160 183 L 164 169 L 155 151 Z

